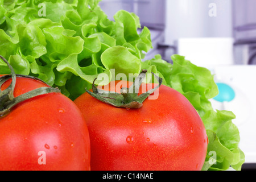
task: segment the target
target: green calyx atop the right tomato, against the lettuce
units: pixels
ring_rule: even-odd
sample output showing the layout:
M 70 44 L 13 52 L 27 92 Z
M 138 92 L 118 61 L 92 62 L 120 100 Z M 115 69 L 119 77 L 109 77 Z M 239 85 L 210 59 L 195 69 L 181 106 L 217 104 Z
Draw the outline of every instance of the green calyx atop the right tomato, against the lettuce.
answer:
M 146 72 L 147 70 L 143 69 L 141 73 L 139 73 L 138 77 L 135 78 L 133 85 L 131 85 L 130 88 L 121 88 L 120 93 L 98 89 L 97 86 L 94 85 L 97 78 L 94 79 L 92 84 L 93 92 L 90 92 L 86 88 L 85 90 L 90 94 L 90 96 L 93 96 L 94 98 L 97 98 L 97 100 L 105 102 L 106 104 L 110 104 L 115 107 L 139 109 L 142 107 L 142 102 L 144 102 L 150 94 L 154 93 L 163 82 L 163 78 L 160 78 L 151 72 L 152 75 L 155 76 L 156 80 L 158 80 L 159 84 L 155 86 L 155 88 L 138 95 L 142 81 L 146 77 Z

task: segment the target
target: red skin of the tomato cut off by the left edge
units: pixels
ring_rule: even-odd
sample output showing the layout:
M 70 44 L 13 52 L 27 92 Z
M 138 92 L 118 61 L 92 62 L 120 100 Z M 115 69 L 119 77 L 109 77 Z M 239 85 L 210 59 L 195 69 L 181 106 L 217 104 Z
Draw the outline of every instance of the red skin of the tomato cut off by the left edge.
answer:
M 6 81 L 1 90 L 10 82 Z M 47 85 L 17 77 L 14 97 L 42 86 Z M 0 118 L 0 139 L 0 170 L 90 170 L 84 117 L 61 93 L 36 96 L 16 105 Z

